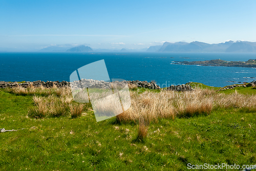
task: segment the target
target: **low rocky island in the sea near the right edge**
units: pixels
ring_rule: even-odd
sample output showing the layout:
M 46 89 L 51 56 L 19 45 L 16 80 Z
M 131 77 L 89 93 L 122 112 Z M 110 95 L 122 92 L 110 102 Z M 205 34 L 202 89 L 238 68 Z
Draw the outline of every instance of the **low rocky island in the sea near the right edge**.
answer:
M 208 60 L 208 61 L 173 61 L 172 64 L 181 65 L 201 65 L 201 66 L 236 66 L 236 67 L 256 67 L 256 59 L 249 59 L 248 61 L 224 61 L 221 59 Z

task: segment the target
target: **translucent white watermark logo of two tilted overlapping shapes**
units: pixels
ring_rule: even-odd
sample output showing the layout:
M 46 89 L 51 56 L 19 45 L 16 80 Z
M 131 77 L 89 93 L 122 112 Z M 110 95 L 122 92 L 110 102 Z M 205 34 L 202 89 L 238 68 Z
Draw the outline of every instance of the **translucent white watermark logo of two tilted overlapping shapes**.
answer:
M 72 72 L 70 86 L 74 101 L 91 102 L 97 122 L 123 113 L 131 106 L 127 81 L 110 80 L 104 60 L 84 65 Z

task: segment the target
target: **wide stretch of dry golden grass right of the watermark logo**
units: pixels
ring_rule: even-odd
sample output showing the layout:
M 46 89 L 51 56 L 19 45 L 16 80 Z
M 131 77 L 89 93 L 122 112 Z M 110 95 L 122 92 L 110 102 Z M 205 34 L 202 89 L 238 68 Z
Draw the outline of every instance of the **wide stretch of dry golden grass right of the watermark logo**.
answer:
M 119 122 L 137 122 L 140 117 L 147 117 L 150 122 L 158 121 L 158 118 L 190 117 L 209 114 L 216 108 L 234 107 L 256 111 L 256 96 L 237 91 L 231 94 L 209 89 L 160 93 L 145 91 L 141 94 L 131 91 L 131 101 L 131 108 L 116 116 Z

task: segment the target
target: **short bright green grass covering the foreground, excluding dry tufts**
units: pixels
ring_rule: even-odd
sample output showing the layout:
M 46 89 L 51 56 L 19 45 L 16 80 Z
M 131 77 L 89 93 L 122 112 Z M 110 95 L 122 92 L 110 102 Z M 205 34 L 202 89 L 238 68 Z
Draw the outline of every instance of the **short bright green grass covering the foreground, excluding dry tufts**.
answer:
M 235 90 L 256 93 L 252 87 L 222 92 Z M 36 119 L 28 117 L 34 106 L 31 95 L 0 90 L 0 97 L 0 128 L 17 130 L 0 133 L 0 170 L 188 170 L 188 163 L 256 164 L 255 112 L 219 108 L 189 118 L 158 119 L 140 141 L 135 122 L 119 123 L 113 117 L 97 123 L 91 110 L 78 118 Z

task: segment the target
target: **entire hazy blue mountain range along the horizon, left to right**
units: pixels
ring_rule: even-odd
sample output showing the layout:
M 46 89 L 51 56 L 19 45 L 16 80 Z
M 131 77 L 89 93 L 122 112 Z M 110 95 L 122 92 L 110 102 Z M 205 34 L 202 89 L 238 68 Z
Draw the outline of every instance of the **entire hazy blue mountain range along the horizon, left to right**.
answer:
M 208 44 L 199 41 L 187 42 L 164 42 L 163 45 L 150 46 L 142 49 L 92 49 L 90 46 L 80 45 L 76 47 L 49 46 L 38 52 L 254 52 L 256 42 L 249 41 L 226 41 L 225 43 Z

